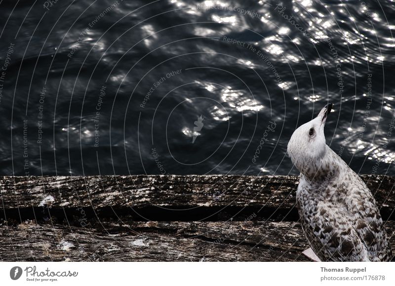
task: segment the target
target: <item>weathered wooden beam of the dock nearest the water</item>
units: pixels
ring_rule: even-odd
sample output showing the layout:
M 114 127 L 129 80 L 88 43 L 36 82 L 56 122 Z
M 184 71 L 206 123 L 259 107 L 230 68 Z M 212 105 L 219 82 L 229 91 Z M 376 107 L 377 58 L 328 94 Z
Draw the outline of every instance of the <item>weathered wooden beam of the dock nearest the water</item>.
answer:
M 384 208 L 395 207 L 395 177 L 361 176 Z M 296 176 L 0 177 L 0 208 L 259 206 L 292 208 Z

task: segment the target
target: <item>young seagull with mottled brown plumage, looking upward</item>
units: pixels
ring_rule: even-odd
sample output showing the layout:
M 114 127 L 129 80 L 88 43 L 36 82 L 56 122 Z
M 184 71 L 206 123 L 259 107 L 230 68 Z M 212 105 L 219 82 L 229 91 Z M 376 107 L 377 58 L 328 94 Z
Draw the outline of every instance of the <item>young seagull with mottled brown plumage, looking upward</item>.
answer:
M 300 171 L 296 206 L 315 261 L 390 261 L 390 243 L 366 184 L 326 143 L 332 104 L 295 130 L 287 153 Z

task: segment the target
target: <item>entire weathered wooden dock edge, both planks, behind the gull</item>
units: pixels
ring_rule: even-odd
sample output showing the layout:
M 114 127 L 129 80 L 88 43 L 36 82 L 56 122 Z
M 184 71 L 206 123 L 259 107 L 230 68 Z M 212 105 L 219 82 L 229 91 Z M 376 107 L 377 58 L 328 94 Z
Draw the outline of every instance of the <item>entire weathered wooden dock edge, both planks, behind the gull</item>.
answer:
M 390 219 L 395 253 L 395 178 L 362 179 Z M 0 260 L 308 261 L 294 208 L 297 181 L 0 177 Z

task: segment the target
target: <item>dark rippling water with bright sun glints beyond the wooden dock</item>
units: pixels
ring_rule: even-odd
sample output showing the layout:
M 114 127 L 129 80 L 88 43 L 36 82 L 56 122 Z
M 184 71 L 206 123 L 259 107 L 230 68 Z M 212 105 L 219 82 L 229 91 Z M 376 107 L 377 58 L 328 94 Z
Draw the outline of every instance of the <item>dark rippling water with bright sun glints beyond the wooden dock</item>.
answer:
M 395 175 L 393 1 L 1 1 L 0 23 L 1 174 L 297 174 L 286 144 L 329 101 L 327 144 Z

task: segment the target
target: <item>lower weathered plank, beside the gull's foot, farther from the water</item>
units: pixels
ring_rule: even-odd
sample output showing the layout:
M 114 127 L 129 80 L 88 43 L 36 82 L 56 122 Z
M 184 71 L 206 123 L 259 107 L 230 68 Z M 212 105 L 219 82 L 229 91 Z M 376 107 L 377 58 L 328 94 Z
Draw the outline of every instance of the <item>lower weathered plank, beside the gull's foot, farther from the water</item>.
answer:
M 395 222 L 386 224 L 395 251 Z M 6 261 L 309 261 L 295 222 L 124 222 L 102 229 L 27 221 L 0 228 Z

